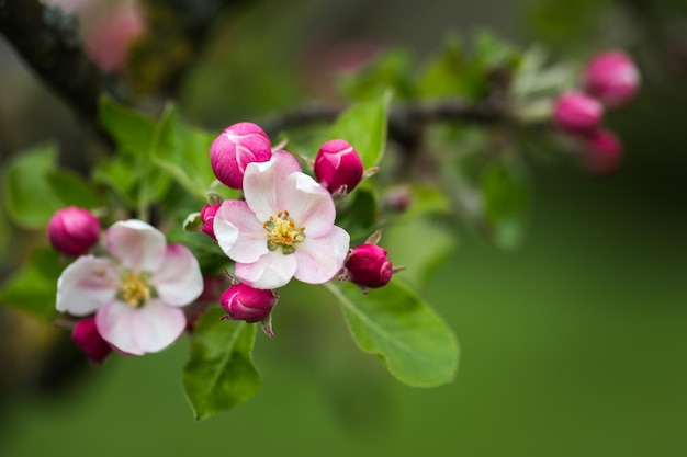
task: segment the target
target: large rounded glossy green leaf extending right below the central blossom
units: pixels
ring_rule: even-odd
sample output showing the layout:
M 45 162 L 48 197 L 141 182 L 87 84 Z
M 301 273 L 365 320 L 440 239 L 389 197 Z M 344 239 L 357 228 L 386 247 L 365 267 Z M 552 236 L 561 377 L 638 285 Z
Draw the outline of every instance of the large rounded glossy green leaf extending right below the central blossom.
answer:
M 327 283 L 358 346 L 399 381 L 433 387 L 453 379 L 458 341 L 446 322 L 407 286 L 392 279 L 368 295 L 352 283 Z

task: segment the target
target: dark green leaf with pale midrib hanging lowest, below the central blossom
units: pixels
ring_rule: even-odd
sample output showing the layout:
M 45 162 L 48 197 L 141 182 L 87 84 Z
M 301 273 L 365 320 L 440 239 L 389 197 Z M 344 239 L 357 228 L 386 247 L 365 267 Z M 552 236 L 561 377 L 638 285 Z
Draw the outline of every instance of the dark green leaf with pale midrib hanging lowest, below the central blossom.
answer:
M 261 384 L 252 364 L 256 325 L 219 320 L 223 316 L 214 307 L 199 319 L 183 367 L 183 388 L 198 421 L 250 399 Z

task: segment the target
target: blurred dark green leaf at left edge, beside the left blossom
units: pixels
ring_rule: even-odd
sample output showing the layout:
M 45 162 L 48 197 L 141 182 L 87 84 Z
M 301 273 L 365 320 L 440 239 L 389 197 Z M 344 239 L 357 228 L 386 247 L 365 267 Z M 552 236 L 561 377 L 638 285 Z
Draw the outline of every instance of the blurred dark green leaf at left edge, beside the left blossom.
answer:
M 0 288 L 0 302 L 49 320 L 55 313 L 57 278 L 64 265 L 49 248 L 35 251 L 29 262 Z

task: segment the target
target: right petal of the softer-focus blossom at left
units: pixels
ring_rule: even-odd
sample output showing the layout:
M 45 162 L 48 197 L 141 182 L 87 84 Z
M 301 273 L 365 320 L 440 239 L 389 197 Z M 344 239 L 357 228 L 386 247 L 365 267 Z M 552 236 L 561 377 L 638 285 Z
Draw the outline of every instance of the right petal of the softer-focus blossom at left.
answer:
M 168 244 L 162 267 L 154 273 L 153 285 L 167 305 L 185 306 L 203 293 L 198 260 L 183 244 Z

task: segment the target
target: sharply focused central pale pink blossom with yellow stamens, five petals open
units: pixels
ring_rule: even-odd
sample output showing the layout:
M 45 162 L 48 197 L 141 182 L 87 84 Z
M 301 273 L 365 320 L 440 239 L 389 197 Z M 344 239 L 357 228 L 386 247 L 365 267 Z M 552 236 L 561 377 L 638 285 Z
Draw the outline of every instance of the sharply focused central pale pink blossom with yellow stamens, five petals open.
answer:
M 254 162 L 244 176 L 246 201 L 227 199 L 215 215 L 219 248 L 236 262 L 236 276 L 260 289 L 292 277 L 309 284 L 331 279 L 344 265 L 350 237 L 334 225 L 331 195 L 278 151 Z

